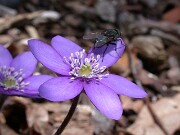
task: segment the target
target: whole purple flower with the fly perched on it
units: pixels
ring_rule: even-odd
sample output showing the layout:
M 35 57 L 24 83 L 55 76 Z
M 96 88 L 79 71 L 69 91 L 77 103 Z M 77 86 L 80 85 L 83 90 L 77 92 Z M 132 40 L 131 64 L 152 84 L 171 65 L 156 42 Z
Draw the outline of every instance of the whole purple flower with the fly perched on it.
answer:
M 117 41 L 117 46 L 121 43 Z M 100 55 L 94 53 L 86 56 L 85 50 L 61 36 L 54 37 L 51 44 L 52 47 L 36 39 L 28 42 L 30 50 L 44 66 L 61 74 L 40 86 L 40 96 L 50 101 L 64 101 L 76 97 L 84 89 L 101 113 L 118 120 L 123 109 L 117 94 L 135 98 L 147 95 L 129 80 L 106 72 L 106 68 L 117 61 L 116 57 L 106 53 L 102 61 Z M 124 48 L 113 49 L 111 53 L 117 51 L 122 54 Z

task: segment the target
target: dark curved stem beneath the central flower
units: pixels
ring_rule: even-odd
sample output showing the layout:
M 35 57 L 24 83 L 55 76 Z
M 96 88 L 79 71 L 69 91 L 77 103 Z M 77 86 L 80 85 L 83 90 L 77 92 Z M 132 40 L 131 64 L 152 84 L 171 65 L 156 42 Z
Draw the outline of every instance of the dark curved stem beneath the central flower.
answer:
M 58 130 L 56 131 L 56 133 L 54 135 L 60 135 L 63 132 L 63 130 L 65 129 L 65 127 L 67 126 L 67 124 L 69 123 L 70 119 L 72 118 L 72 116 L 76 110 L 76 107 L 77 107 L 77 104 L 79 101 L 79 96 L 80 95 L 78 95 L 77 97 L 74 98 L 68 114 L 66 115 L 64 121 L 62 122 L 62 124 L 60 125 L 60 127 L 58 128 Z

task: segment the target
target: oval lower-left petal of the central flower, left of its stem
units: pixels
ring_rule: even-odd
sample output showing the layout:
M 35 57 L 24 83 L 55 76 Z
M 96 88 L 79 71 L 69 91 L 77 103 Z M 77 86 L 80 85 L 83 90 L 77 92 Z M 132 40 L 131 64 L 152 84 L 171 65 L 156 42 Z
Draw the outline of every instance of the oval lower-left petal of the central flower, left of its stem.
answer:
M 50 101 L 65 101 L 76 97 L 83 89 L 80 80 L 57 77 L 46 81 L 39 88 L 40 96 Z

